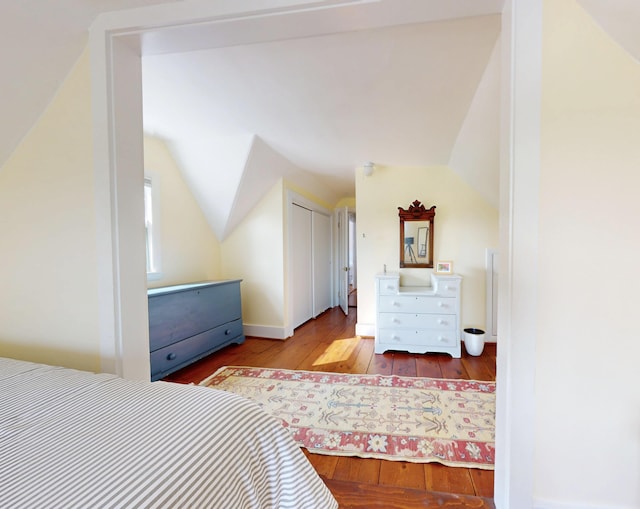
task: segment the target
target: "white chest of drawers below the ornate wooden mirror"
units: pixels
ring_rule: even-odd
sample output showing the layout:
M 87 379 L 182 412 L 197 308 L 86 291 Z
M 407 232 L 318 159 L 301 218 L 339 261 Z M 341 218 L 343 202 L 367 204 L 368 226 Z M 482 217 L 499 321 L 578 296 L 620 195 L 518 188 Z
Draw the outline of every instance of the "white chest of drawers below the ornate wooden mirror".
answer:
M 443 352 L 460 357 L 457 275 L 431 275 L 431 286 L 400 286 L 398 273 L 376 276 L 375 352 Z

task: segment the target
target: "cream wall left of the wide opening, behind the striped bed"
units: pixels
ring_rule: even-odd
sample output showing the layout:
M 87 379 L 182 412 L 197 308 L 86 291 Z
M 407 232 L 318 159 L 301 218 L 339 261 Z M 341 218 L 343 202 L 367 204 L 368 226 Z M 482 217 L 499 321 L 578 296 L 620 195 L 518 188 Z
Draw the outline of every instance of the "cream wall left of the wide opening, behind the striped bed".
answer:
M 85 52 L 0 169 L 0 355 L 99 369 L 91 132 Z

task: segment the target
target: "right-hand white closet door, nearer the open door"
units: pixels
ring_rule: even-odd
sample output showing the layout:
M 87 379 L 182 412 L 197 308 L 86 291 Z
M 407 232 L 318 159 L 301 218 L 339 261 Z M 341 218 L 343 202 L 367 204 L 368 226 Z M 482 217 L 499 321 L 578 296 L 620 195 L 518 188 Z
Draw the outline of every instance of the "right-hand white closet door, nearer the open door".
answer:
M 313 211 L 313 316 L 331 307 L 331 218 Z

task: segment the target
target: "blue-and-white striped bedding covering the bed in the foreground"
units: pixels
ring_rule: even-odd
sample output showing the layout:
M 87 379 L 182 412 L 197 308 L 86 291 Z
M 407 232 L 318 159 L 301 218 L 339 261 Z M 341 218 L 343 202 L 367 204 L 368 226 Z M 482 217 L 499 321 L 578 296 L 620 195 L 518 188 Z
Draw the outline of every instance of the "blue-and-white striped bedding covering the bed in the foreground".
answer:
M 0 507 L 337 503 L 288 432 L 248 400 L 0 358 Z

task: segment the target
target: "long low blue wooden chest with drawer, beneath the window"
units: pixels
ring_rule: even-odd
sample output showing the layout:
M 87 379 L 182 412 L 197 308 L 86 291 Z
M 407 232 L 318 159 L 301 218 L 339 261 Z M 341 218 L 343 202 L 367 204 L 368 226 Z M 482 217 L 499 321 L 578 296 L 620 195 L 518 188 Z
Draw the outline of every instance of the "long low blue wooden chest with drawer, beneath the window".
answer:
M 240 281 L 207 281 L 147 291 L 151 380 L 244 341 Z

